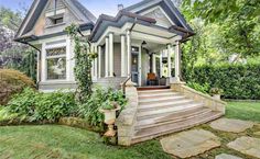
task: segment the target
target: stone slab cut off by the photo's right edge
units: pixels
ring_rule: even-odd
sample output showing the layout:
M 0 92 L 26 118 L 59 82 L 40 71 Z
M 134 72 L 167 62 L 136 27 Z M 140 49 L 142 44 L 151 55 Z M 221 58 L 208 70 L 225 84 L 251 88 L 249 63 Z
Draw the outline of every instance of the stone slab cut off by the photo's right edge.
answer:
M 229 148 L 241 154 L 260 158 L 260 139 L 242 136 L 227 145 Z

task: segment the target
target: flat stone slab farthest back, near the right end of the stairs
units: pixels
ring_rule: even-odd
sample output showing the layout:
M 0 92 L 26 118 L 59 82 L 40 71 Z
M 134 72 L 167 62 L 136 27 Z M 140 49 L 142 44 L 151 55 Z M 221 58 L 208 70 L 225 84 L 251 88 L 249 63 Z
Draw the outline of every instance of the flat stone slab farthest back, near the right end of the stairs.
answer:
M 217 121 L 212 122 L 210 127 L 223 132 L 241 133 L 248 128 L 252 128 L 253 122 L 231 118 L 219 118 Z

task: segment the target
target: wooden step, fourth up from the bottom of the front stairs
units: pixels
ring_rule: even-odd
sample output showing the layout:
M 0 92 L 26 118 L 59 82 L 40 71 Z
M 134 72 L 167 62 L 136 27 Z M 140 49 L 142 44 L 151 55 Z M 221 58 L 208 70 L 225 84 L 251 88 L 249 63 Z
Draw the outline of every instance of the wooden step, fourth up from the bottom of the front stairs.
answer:
M 154 102 L 152 104 L 140 104 L 138 106 L 138 112 L 143 112 L 143 111 L 152 111 L 152 110 L 159 110 L 159 109 L 166 109 L 166 107 L 172 107 L 181 104 L 188 104 L 194 102 L 193 100 L 188 99 L 180 99 L 180 100 L 174 100 L 171 102 Z

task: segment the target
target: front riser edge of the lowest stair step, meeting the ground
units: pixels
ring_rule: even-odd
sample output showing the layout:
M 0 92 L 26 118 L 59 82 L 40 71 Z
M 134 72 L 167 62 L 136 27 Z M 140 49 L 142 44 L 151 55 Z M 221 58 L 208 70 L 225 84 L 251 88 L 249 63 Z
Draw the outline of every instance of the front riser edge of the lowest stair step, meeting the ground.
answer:
M 131 144 L 138 144 L 138 143 L 141 143 L 141 141 L 145 141 L 145 140 L 156 138 L 159 136 L 164 136 L 164 135 L 167 135 L 167 134 L 172 134 L 172 133 L 181 132 L 181 130 L 184 130 L 184 129 L 187 129 L 187 128 L 192 128 L 194 126 L 197 126 L 197 125 L 205 124 L 205 123 L 208 123 L 210 121 L 217 120 L 217 118 L 221 117 L 223 115 L 224 115 L 223 113 L 218 113 L 218 114 L 215 114 L 214 116 L 210 116 L 206 120 L 201 120 L 199 122 L 195 122 L 191 125 L 185 125 L 185 126 L 182 126 L 182 127 L 167 129 L 167 130 L 162 132 L 162 133 L 156 133 L 156 134 L 151 134 L 151 135 L 145 135 L 145 136 L 134 136 L 132 138 Z

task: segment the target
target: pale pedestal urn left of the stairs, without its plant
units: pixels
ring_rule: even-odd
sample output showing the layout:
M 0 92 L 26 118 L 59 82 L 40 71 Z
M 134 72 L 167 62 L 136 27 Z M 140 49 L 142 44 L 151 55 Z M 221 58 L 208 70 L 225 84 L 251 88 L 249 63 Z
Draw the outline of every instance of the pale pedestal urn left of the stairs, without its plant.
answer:
M 118 106 L 113 110 L 104 110 L 101 109 L 100 112 L 105 115 L 105 124 L 108 125 L 108 130 L 105 133 L 105 136 L 107 137 L 113 137 L 116 135 L 116 130 L 113 129 L 113 125 L 117 118 L 117 111 L 119 111 L 121 107 Z

